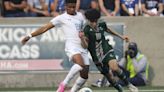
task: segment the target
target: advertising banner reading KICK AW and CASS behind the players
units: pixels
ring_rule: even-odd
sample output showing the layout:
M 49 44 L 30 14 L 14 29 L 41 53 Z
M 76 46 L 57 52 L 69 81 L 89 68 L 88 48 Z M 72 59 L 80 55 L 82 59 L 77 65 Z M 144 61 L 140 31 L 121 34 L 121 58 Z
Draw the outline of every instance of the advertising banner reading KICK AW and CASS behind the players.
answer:
M 43 35 L 33 37 L 22 45 L 23 36 L 41 25 L 0 25 L 0 70 L 68 70 L 72 63 L 64 51 L 65 37 L 62 28 L 53 28 Z M 123 24 L 108 24 L 120 34 Z M 117 58 L 123 56 L 123 41 L 105 33 L 114 47 Z M 92 61 L 91 61 L 92 62 Z M 96 70 L 92 63 L 91 70 Z

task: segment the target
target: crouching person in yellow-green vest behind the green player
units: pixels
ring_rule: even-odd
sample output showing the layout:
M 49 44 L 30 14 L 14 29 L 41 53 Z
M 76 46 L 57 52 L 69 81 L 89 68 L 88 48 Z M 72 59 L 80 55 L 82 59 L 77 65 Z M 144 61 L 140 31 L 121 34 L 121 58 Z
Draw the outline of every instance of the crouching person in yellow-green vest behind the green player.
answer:
M 145 55 L 139 52 L 135 42 L 129 43 L 128 50 L 125 52 L 125 58 L 119 62 L 119 65 L 133 85 L 145 86 L 148 83 L 149 64 Z M 121 80 L 119 83 L 125 86 Z

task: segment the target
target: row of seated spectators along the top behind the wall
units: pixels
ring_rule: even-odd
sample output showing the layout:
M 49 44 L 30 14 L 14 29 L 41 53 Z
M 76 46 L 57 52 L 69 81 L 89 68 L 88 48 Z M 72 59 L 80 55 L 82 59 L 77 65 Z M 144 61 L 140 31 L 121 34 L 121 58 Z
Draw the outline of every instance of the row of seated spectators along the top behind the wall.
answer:
M 163 16 L 164 0 L 77 0 L 77 11 L 96 8 L 104 16 Z M 0 17 L 55 17 L 65 0 L 0 0 Z

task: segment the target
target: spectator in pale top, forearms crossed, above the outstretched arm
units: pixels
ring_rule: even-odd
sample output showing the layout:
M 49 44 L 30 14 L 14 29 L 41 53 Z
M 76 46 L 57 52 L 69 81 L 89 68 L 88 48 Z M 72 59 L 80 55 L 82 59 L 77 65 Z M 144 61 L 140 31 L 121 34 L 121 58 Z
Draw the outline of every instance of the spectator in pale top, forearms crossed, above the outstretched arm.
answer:
M 50 13 L 48 12 L 48 3 L 49 0 L 28 0 L 29 11 L 33 16 L 49 17 Z

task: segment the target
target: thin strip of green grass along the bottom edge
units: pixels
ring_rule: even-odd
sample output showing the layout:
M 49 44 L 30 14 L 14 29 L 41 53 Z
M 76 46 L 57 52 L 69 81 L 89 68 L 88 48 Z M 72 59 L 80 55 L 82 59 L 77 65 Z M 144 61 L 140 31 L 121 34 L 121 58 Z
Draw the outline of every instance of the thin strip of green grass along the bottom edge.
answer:
M 93 92 L 117 92 L 112 87 L 95 88 L 91 87 Z M 124 92 L 129 92 L 127 88 L 124 88 Z M 56 88 L 10 88 L 0 89 L 0 92 L 55 92 Z M 68 90 L 65 92 L 69 92 Z M 139 92 L 164 92 L 164 87 L 139 87 Z

